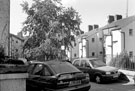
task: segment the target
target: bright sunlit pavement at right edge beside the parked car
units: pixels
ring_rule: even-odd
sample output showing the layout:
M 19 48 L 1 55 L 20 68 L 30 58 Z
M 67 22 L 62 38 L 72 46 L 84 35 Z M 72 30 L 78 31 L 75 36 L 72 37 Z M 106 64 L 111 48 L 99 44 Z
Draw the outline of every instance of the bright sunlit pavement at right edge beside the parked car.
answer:
M 119 69 L 119 72 L 124 73 L 129 80 L 128 83 L 125 83 L 123 85 L 135 85 L 135 71 Z

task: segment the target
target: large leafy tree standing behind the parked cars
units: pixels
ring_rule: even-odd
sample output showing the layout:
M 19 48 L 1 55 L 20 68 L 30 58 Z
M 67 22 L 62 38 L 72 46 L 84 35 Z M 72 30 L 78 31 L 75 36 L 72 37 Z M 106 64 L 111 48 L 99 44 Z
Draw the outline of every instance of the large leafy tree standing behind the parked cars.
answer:
M 57 58 L 62 55 L 61 46 L 69 49 L 71 42 L 75 41 L 74 35 L 82 33 L 78 12 L 72 7 L 63 7 L 61 0 L 33 0 L 31 7 L 28 2 L 21 6 L 28 15 L 22 31 L 29 33 L 29 39 L 23 47 L 29 53 L 36 48 L 37 51 L 33 52 L 37 56 Z

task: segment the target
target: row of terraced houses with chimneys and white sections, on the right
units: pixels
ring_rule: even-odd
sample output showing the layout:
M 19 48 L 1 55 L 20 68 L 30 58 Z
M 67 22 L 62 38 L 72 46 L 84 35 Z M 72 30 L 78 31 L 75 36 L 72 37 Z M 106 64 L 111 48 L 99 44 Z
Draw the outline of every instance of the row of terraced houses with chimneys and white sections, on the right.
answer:
M 110 15 L 103 27 L 89 25 L 89 31 L 76 37 L 71 50 L 72 59 L 77 57 L 98 57 L 109 64 L 110 60 L 126 52 L 135 57 L 135 16 L 122 18 Z

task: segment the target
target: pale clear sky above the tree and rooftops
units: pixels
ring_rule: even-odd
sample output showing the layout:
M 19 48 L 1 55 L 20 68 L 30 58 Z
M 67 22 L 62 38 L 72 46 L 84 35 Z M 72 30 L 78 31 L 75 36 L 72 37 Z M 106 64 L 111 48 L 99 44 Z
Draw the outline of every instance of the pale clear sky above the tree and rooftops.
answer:
M 10 32 L 17 34 L 22 29 L 22 23 L 27 15 L 23 12 L 21 3 L 32 0 L 10 0 Z M 126 17 L 127 0 L 62 0 L 63 6 L 73 7 L 81 15 L 81 30 L 87 32 L 88 25 L 107 24 L 108 15 L 120 14 Z M 135 15 L 135 0 L 128 0 L 128 16 Z

